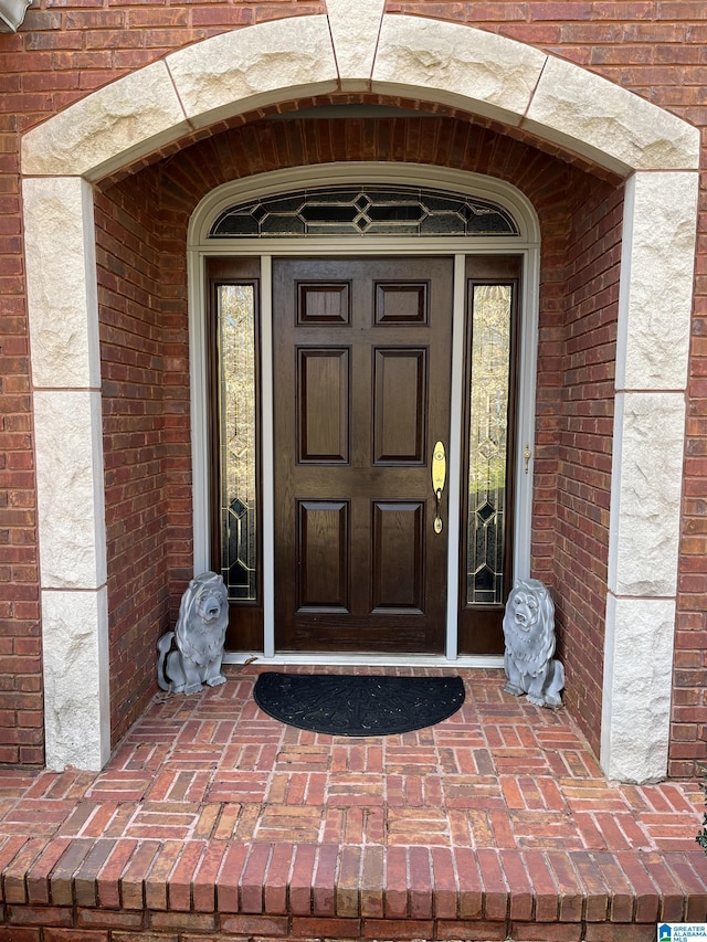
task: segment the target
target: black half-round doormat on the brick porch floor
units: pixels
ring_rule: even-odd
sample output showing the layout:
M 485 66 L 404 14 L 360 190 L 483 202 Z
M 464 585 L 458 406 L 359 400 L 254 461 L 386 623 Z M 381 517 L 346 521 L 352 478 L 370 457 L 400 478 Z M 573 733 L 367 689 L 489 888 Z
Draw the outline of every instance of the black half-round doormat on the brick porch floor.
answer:
M 391 735 L 439 723 L 464 702 L 461 677 L 261 674 L 257 706 L 284 723 L 330 735 Z

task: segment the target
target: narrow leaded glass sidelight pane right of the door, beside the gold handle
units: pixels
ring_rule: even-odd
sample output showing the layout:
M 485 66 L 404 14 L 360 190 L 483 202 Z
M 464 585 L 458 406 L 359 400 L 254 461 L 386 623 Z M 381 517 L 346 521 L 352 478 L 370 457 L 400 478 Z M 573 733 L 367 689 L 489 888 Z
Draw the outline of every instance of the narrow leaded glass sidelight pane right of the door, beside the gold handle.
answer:
M 472 289 L 467 605 L 503 604 L 513 288 Z

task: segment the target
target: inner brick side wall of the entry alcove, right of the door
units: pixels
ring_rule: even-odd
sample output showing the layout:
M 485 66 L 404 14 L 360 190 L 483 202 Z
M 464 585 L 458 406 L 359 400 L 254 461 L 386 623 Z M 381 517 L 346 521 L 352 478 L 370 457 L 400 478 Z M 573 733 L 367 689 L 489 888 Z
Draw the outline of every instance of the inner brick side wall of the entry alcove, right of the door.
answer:
M 555 575 L 566 700 L 599 751 L 623 190 L 592 189 L 571 199 Z

